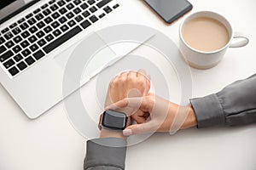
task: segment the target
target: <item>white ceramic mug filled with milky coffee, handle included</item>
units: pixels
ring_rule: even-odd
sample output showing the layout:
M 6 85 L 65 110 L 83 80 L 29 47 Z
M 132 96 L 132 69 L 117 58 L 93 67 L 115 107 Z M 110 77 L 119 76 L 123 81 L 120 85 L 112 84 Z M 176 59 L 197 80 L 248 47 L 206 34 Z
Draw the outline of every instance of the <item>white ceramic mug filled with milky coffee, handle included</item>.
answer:
M 233 30 L 229 20 L 211 11 L 190 14 L 179 29 L 183 57 L 197 69 L 218 65 L 228 48 L 241 48 L 248 42 L 246 36 Z

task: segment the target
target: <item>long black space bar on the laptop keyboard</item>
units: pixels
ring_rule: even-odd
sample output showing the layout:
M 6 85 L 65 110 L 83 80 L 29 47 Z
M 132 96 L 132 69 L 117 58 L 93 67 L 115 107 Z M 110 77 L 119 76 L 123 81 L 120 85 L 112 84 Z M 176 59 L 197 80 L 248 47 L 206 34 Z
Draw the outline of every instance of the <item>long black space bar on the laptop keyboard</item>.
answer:
M 67 40 L 77 35 L 80 31 L 82 31 L 82 29 L 79 26 L 76 26 L 72 30 L 67 31 L 66 34 L 62 35 L 61 37 L 56 39 L 54 42 L 51 42 L 47 46 L 45 46 L 43 48 L 44 52 L 49 54 L 49 52 L 59 47 L 62 43 L 67 42 Z

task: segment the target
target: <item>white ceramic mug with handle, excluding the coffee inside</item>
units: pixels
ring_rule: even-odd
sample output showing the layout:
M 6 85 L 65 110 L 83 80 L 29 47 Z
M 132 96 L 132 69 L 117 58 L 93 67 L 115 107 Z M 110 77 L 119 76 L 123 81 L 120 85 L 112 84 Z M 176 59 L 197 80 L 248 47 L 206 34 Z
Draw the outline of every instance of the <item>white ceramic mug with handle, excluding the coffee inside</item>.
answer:
M 212 18 L 221 22 L 229 32 L 230 40 L 223 47 L 214 51 L 201 51 L 189 46 L 183 38 L 183 26 L 192 19 L 199 17 Z M 239 38 L 238 41 L 232 42 L 235 38 Z M 223 59 L 224 54 L 228 48 L 240 48 L 247 45 L 249 39 L 243 36 L 241 33 L 234 32 L 233 28 L 228 20 L 224 16 L 211 12 L 211 11 L 201 11 L 194 14 L 190 14 L 185 20 L 183 20 L 180 29 L 179 29 L 179 47 L 183 53 L 183 57 L 186 62 L 197 69 L 209 69 L 215 65 L 218 65 L 219 61 Z

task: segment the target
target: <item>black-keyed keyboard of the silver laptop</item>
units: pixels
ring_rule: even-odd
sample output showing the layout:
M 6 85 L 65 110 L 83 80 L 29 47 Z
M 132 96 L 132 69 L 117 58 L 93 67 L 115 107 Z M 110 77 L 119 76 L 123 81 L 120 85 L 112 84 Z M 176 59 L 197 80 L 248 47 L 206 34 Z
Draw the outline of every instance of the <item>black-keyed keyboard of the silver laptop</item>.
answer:
M 0 63 L 15 77 L 118 7 L 115 0 L 51 0 L 0 31 Z

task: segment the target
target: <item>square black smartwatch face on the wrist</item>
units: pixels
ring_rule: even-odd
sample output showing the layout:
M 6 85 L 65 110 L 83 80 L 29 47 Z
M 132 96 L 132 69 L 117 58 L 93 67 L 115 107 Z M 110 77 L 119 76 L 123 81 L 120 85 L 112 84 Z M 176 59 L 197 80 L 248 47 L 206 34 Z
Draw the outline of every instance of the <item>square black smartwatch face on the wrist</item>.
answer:
M 125 113 L 119 111 L 105 111 L 102 117 L 102 126 L 124 130 L 127 123 Z

